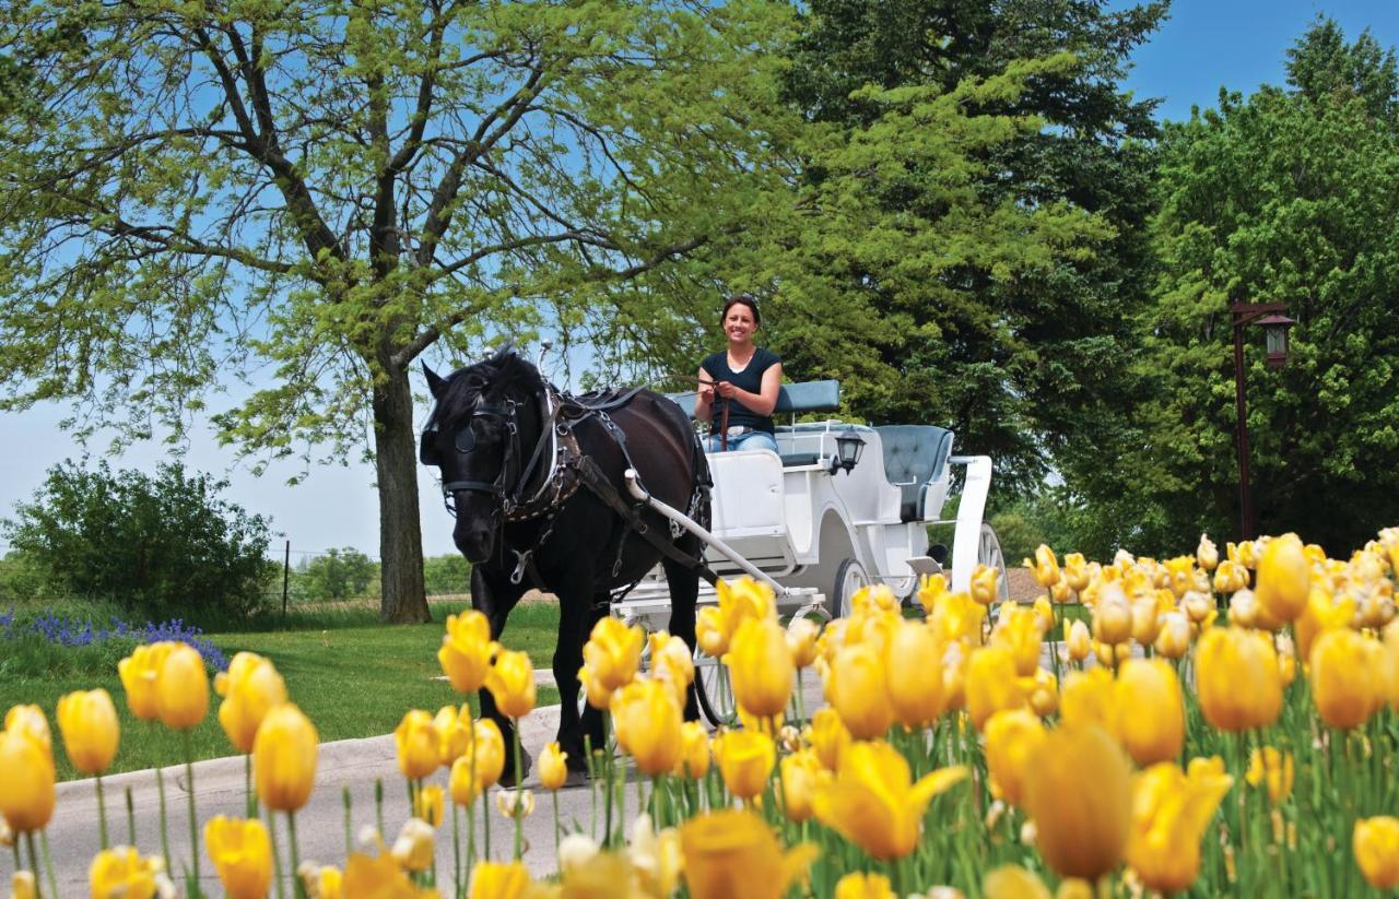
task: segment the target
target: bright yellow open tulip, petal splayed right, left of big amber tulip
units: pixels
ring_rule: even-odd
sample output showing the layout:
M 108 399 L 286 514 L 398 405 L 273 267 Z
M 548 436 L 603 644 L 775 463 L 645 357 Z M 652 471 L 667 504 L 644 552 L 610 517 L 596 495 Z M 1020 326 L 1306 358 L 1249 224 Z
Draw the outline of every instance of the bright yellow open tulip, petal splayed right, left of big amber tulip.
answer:
M 916 783 L 908 761 L 887 742 L 856 742 L 835 779 L 813 798 L 817 821 L 881 861 L 914 850 L 923 811 L 935 796 L 967 777 L 965 766 L 942 768 Z

